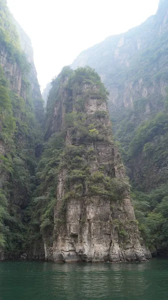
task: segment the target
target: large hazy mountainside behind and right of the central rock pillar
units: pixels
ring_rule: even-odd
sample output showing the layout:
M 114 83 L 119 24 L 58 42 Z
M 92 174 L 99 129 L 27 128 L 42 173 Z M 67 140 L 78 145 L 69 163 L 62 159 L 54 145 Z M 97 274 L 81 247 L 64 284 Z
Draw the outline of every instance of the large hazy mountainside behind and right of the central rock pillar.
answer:
M 168 249 L 168 1 L 140 26 L 83 51 L 110 91 L 108 106 L 151 251 Z

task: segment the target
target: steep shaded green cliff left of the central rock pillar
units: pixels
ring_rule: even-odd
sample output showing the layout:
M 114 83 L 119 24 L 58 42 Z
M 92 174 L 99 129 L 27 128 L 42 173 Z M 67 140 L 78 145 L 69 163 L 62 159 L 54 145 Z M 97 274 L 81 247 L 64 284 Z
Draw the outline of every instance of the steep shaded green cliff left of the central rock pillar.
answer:
M 28 61 L 14 22 L 0 0 L 0 260 L 22 252 L 44 114 L 32 50 Z

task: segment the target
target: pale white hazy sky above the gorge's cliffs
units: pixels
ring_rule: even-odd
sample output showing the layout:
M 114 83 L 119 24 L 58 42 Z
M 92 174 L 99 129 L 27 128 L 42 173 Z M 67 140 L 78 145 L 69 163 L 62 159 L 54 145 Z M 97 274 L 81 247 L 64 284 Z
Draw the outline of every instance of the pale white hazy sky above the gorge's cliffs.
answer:
M 7 0 L 31 38 L 43 89 L 84 49 L 155 14 L 159 0 Z

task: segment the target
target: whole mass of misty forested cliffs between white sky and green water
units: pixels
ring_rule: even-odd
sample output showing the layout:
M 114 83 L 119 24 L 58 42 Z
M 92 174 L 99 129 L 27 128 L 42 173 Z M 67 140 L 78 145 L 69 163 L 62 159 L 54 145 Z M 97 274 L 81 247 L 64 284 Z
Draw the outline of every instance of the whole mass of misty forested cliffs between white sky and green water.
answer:
M 167 0 L 42 96 L 30 38 L 0 0 L 0 260 L 151 253 L 168 254 Z

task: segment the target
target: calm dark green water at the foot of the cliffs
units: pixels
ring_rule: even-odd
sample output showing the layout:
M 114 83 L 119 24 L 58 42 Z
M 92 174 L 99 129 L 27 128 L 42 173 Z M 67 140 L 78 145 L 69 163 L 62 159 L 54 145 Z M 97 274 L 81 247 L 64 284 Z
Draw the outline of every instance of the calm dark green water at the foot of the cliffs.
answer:
M 168 300 L 168 259 L 0 262 L 0 300 Z

